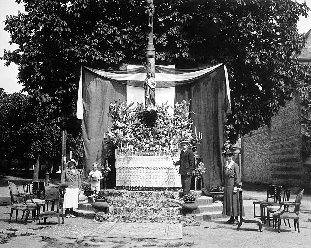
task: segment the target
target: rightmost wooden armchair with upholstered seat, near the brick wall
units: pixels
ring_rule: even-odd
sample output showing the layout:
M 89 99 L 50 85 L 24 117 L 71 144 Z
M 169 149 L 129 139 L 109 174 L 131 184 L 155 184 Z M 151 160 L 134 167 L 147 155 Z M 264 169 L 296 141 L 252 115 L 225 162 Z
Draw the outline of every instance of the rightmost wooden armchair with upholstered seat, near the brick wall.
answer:
M 299 210 L 300 210 L 301 199 L 302 199 L 304 191 L 305 190 L 303 189 L 298 193 L 298 195 L 296 196 L 295 202 L 290 202 L 290 201 L 280 202 L 279 209 L 273 213 L 273 221 L 275 223 L 277 222 L 278 232 L 280 232 L 281 219 L 287 219 L 287 220 L 293 219 L 295 231 L 296 231 L 296 224 L 297 224 L 298 233 L 300 233 L 299 231 Z M 293 211 L 291 211 L 291 207 L 294 207 Z M 275 229 L 276 229 L 276 224 L 275 224 Z

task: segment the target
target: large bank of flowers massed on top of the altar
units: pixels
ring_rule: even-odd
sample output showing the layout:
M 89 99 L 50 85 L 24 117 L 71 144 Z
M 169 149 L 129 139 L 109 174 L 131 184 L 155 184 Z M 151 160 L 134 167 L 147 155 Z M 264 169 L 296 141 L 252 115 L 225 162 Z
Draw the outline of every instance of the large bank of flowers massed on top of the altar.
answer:
M 109 142 L 121 154 L 134 151 L 155 151 L 157 155 L 177 151 L 178 143 L 187 140 L 190 146 L 200 144 L 201 135 L 192 130 L 193 119 L 189 114 L 190 101 L 176 103 L 174 113 L 166 104 L 156 105 L 156 110 L 148 110 L 143 103 L 127 106 L 126 102 L 110 103 L 108 116 L 112 121 Z M 108 142 L 108 143 L 109 143 Z

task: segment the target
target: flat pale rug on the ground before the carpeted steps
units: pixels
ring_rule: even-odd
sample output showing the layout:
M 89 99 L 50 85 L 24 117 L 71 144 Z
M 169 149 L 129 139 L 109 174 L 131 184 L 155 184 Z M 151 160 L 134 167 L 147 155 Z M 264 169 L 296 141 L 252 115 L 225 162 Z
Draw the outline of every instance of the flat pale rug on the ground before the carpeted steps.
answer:
M 181 239 L 181 223 L 124 223 L 106 222 L 85 236 L 106 238 Z

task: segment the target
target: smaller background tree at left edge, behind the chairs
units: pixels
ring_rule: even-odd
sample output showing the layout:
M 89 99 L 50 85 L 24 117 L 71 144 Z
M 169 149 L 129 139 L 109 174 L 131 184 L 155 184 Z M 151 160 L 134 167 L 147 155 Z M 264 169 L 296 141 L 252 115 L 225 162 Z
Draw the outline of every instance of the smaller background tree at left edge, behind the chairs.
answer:
M 42 112 L 22 92 L 9 94 L 0 89 L 0 152 L 8 160 L 36 162 L 33 180 L 38 181 L 39 160 L 60 157 L 60 128 L 55 121 L 42 120 Z M 27 163 L 28 166 L 28 163 Z

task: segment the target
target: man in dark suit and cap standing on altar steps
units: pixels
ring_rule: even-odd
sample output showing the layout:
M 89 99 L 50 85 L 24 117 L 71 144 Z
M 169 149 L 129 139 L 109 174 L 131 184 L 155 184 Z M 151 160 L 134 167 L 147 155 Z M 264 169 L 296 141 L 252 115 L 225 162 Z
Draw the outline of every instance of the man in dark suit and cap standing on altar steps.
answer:
M 181 175 L 181 183 L 184 195 L 190 194 L 191 174 L 194 169 L 194 153 L 188 149 L 188 141 L 179 142 L 181 152 L 179 161 L 173 162 L 174 165 L 180 165 L 179 174 Z

